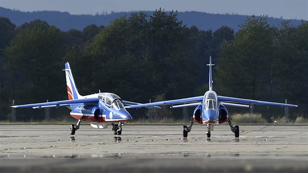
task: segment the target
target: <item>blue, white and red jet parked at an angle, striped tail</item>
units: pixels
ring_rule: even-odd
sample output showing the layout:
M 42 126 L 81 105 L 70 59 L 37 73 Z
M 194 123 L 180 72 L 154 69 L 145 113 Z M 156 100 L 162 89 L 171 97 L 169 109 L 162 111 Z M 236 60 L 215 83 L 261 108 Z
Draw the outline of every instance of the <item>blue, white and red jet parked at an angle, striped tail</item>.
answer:
M 137 105 L 139 103 L 124 101 L 116 94 L 108 92 L 81 96 L 68 63 L 65 64 L 64 71 L 66 73 L 68 100 L 18 105 L 12 106 L 12 108 L 58 108 L 65 106 L 72 110 L 70 115 L 78 120 L 76 125 L 70 125 L 70 134 L 75 134 L 75 131 L 80 128 L 81 121 L 84 121 L 89 122 L 93 128 L 97 129 L 105 129 L 108 127 L 108 123 L 111 123 L 113 134 L 120 135 L 124 122 L 132 120 L 132 116 L 124 105 Z

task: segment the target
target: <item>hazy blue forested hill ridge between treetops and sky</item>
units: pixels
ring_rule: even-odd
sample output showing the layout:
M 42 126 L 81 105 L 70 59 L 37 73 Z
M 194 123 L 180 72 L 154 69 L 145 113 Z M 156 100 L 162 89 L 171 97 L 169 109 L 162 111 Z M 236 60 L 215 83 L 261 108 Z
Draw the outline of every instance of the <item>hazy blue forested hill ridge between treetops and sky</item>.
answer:
M 148 15 L 152 15 L 153 11 L 147 11 Z M 54 25 L 62 31 L 70 29 L 82 30 L 90 24 L 108 25 L 112 20 L 126 15 L 129 17 L 131 12 L 119 12 L 103 15 L 70 15 L 67 12 L 57 11 L 38 11 L 38 12 L 21 12 L 0 7 L 0 16 L 9 18 L 11 22 L 17 26 L 25 22 L 31 22 L 37 19 L 47 22 L 49 25 Z M 177 18 L 183 21 L 183 24 L 197 26 L 200 30 L 217 30 L 221 26 L 226 25 L 233 28 L 235 32 L 239 30 L 239 25 L 244 24 L 248 16 L 242 15 L 220 15 L 209 14 L 203 12 L 178 12 Z M 283 19 L 267 18 L 270 25 L 278 25 Z M 300 20 L 291 20 L 294 25 L 301 24 Z

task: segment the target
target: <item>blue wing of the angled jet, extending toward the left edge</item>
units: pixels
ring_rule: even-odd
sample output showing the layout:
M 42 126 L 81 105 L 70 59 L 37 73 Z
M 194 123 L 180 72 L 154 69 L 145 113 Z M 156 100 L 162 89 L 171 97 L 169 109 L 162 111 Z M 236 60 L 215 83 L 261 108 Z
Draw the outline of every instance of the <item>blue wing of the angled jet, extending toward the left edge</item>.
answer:
M 85 98 L 85 99 L 75 99 L 75 100 L 63 100 L 56 102 L 45 102 L 45 103 L 35 103 L 35 104 L 27 104 L 27 105 L 17 105 L 11 106 L 12 108 L 50 108 L 50 107 L 63 107 L 69 106 L 71 104 L 79 104 L 79 103 L 94 103 L 98 102 L 98 98 Z

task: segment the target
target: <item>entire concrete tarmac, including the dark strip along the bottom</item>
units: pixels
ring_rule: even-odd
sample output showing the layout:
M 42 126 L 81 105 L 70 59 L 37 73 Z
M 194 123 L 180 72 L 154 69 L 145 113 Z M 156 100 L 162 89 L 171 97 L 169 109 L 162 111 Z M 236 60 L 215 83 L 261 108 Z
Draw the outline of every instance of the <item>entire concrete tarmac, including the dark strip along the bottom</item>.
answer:
M 1 125 L 1 172 L 305 172 L 308 126 L 240 126 L 235 138 L 218 125 L 208 139 L 206 126 L 125 125 L 98 130 L 82 124 Z

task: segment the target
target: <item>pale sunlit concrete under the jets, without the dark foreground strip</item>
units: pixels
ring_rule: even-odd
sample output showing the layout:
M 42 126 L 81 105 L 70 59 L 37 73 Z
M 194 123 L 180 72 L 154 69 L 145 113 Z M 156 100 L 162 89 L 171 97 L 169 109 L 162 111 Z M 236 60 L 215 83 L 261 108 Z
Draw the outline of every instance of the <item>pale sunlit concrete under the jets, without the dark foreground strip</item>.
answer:
M 181 126 L 125 126 L 122 135 L 113 135 L 110 129 L 93 130 L 86 125 L 77 130 L 76 135 L 69 135 L 69 126 L 31 127 L 34 130 L 27 125 L 1 126 L 0 168 L 5 166 L 7 159 L 21 158 L 100 158 L 124 162 L 127 159 L 154 159 L 156 162 L 166 158 L 171 159 L 170 162 L 188 158 L 217 159 L 218 162 L 270 159 L 281 167 L 292 159 L 298 161 L 294 166 L 298 163 L 302 167 L 306 165 L 306 170 L 308 167 L 307 126 L 240 126 L 239 138 L 234 137 L 228 126 L 216 126 L 211 138 L 206 137 L 203 126 L 197 125 L 185 138 Z M 57 130 L 53 131 L 54 128 Z M 188 163 L 195 165 L 191 161 Z M 250 163 L 250 166 L 258 165 Z

